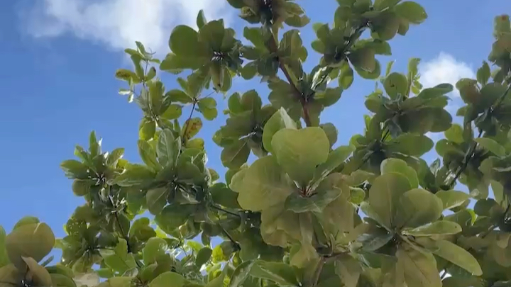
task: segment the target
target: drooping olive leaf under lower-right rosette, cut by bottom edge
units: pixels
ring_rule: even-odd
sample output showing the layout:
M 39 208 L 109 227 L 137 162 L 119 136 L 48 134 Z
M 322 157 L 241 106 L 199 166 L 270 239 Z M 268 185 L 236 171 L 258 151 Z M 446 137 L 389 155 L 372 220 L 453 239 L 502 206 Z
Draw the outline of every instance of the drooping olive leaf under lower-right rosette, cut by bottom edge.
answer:
M 441 287 L 439 271 L 432 254 L 419 252 L 408 244 L 401 244 L 396 252 L 397 260 L 405 269 L 407 286 Z

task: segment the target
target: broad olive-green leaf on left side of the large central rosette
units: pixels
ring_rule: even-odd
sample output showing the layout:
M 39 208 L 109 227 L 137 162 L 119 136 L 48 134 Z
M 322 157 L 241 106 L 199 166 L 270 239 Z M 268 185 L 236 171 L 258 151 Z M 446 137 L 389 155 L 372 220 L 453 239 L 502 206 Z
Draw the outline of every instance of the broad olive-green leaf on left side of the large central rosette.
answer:
M 229 187 L 239 193 L 241 208 L 253 211 L 283 203 L 293 191 L 292 181 L 273 156 L 261 157 L 238 171 Z

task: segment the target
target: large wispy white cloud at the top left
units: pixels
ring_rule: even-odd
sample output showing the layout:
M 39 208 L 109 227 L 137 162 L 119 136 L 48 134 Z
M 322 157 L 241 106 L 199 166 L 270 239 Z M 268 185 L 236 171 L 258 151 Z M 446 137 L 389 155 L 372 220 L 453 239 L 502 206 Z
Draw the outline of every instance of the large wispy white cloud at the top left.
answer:
M 209 20 L 228 20 L 234 12 L 219 0 L 40 0 L 21 21 L 36 38 L 72 33 L 114 50 L 133 47 L 138 40 L 165 54 L 172 28 L 195 27 L 200 9 Z

